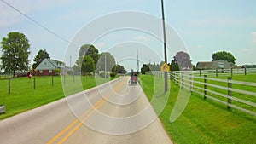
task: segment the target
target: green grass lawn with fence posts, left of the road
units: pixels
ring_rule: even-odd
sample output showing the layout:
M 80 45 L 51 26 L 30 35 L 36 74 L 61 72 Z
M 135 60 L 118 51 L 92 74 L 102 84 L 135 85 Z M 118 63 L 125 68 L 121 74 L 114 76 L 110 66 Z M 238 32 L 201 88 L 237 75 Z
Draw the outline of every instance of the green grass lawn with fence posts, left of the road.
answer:
M 9 81 L 1 79 L 0 105 L 3 104 L 7 112 L 0 115 L 0 120 L 59 100 L 67 95 L 93 88 L 96 84 L 106 83 L 112 79 L 81 76 L 66 76 L 65 78 L 57 76 L 53 79 L 52 77 L 36 77 L 36 89 L 34 89 L 33 78 L 12 78 L 10 80 L 10 95 Z

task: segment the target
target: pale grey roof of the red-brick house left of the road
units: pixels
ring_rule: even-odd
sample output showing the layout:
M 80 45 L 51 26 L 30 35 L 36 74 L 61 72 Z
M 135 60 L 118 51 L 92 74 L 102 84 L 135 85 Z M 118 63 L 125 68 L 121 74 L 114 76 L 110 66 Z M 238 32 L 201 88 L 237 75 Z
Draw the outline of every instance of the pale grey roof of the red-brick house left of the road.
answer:
M 44 59 L 38 66 L 37 70 L 55 70 L 57 68 L 64 68 L 65 63 L 59 60 Z

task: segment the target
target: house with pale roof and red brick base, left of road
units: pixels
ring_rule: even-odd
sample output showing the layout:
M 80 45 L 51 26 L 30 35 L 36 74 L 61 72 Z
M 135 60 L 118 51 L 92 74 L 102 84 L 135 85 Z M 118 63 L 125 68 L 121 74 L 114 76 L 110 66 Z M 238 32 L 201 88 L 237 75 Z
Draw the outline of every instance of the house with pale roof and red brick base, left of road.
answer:
M 58 60 L 44 59 L 36 68 L 37 76 L 53 76 L 63 74 L 65 63 Z M 59 70 L 59 72 L 57 72 Z

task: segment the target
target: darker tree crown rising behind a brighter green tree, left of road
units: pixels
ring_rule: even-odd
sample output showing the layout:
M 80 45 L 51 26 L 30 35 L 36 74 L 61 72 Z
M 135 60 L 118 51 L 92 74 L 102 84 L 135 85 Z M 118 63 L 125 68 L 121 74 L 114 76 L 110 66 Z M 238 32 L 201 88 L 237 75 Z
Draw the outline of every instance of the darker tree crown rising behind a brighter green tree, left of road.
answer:
M 94 45 L 84 44 L 79 50 L 79 57 L 81 56 L 90 56 L 96 65 L 99 59 L 99 50 Z

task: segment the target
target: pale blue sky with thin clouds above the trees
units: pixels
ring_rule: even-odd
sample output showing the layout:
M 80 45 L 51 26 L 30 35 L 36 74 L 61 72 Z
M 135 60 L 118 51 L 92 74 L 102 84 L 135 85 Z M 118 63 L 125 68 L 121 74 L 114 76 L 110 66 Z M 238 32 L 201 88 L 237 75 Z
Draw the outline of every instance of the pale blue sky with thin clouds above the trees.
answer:
M 0 1 L 0 37 L 22 32 L 31 44 L 31 63 L 39 49 L 65 61 L 77 59 L 79 47 L 92 43 L 109 51 L 127 70 L 164 60 L 160 0 L 6 0 Z M 256 64 L 256 1 L 164 0 L 167 61 L 178 51 L 192 64 L 228 51 L 236 65 Z M 1 48 L 0 48 L 1 49 Z M 1 53 L 1 52 L 0 52 Z

